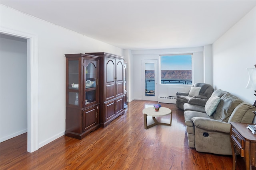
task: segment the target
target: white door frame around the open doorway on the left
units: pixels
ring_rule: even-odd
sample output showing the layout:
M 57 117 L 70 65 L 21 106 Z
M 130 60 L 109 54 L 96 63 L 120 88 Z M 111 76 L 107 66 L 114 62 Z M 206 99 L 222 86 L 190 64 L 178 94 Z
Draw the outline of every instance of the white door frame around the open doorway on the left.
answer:
M 0 27 L 0 33 L 27 39 L 27 123 L 28 140 L 27 151 L 39 149 L 38 140 L 38 37 L 22 31 Z

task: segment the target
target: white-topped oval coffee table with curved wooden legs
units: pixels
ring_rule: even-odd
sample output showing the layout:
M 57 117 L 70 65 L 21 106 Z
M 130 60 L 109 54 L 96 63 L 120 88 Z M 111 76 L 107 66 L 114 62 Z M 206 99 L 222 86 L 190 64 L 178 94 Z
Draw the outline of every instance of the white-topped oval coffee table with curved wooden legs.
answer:
M 154 107 L 147 107 L 145 109 L 142 110 L 142 113 L 144 115 L 144 128 L 145 129 L 148 129 L 152 126 L 155 126 L 155 125 L 167 125 L 167 126 L 172 126 L 172 110 L 169 109 L 169 108 L 166 108 L 166 107 L 161 107 L 159 109 L 159 111 L 155 111 Z M 161 116 L 166 116 L 166 115 L 170 115 L 171 114 L 171 121 L 170 121 L 170 124 L 169 123 L 161 123 L 161 122 L 158 122 L 156 120 L 156 117 L 161 117 Z M 152 125 L 149 125 L 148 126 L 148 123 L 147 123 L 147 116 L 152 116 L 153 120 L 155 123 L 153 123 Z

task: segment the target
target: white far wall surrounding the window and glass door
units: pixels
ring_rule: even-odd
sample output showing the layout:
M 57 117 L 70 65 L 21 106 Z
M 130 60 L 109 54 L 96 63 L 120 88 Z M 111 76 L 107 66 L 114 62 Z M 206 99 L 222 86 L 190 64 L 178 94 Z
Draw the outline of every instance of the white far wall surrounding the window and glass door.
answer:
M 157 49 L 132 51 L 133 57 L 133 94 L 134 100 L 142 100 L 142 60 L 157 59 L 159 63 L 160 54 L 193 53 L 193 80 L 204 82 L 204 47 L 182 48 L 182 49 Z M 206 56 L 208 57 L 208 56 Z M 157 68 L 159 69 L 159 68 Z M 210 77 L 211 78 L 211 77 Z M 184 87 L 188 92 L 190 85 L 158 85 L 158 96 L 166 96 L 168 87 Z

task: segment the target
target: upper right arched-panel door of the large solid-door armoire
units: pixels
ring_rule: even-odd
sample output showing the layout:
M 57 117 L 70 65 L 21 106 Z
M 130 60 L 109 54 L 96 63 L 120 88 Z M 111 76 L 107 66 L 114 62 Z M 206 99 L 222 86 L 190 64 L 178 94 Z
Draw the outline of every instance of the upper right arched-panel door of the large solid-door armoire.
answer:
M 116 59 L 116 97 L 124 94 L 124 61 Z

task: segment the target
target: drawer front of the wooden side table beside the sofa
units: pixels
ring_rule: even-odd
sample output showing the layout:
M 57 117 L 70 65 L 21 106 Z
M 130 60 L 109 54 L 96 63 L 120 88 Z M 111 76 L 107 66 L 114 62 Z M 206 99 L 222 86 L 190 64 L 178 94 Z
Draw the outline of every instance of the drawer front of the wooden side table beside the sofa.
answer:
M 234 145 L 236 145 L 236 150 L 240 156 L 244 157 L 244 138 L 234 128 L 232 128 L 231 139 L 234 141 Z

